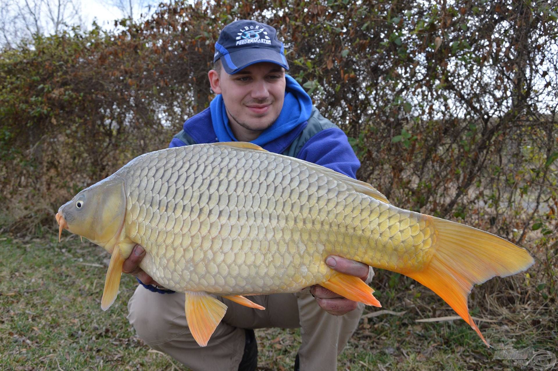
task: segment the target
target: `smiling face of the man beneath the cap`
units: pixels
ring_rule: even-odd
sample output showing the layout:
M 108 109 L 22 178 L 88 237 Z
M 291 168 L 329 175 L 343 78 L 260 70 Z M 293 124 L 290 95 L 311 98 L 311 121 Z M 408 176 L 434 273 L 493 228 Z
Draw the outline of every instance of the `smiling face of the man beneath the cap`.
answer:
M 285 100 L 285 69 L 270 62 L 248 66 L 234 75 L 222 68 L 209 71 L 211 89 L 222 94 L 227 115 L 239 141 L 256 139 L 275 122 Z

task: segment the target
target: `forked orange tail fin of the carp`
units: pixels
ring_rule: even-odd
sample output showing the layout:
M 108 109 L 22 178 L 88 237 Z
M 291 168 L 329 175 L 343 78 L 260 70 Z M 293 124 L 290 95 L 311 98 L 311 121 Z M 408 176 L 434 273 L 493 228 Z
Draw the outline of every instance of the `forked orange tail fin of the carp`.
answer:
M 437 232 L 432 246 L 434 256 L 422 271 L 405 274 L 437 293 L 489 346 L 469 315 L 467 297 L 473 285 L 524 271 L 533 264 L 533 258 L 526 249 L 496 235 L 453 221 L 428 218 Z

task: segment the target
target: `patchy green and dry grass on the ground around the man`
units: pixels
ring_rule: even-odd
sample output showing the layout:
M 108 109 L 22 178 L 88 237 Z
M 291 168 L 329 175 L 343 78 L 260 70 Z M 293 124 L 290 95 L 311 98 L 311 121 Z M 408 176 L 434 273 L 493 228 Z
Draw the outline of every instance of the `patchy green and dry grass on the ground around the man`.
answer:
M 109 256 L 70 236 L 15 239 L 0 234 L 1 370 L 186 370 L 137 338 L 126 319 L 136 287 L 124 274 L 121 292 L 107 312 L 100 309 Z M 494 282 L 493 282 L 494 281 Z M 541 298 L 521 277 L 491 280 L 473 290 L 469 307 L 493 345 L 532 346 L 558 354 L 554 298 Z M 523 283 L 522 283 L 523 282 Z M 379 271 L 372 286 L 383 309 L 403 315 L 363 316 L 338 358 L 339 370 L 514 370 L 493 360 L 464 321 L 421 323 L 454 315 L 434 293 L 416 282 Z M 375 294 L 376 295 L 376 294 Z M 479 309 L 482 308 L 482 309 Z M 260 370 L 291 370 L 299 330 L 257 330 Z

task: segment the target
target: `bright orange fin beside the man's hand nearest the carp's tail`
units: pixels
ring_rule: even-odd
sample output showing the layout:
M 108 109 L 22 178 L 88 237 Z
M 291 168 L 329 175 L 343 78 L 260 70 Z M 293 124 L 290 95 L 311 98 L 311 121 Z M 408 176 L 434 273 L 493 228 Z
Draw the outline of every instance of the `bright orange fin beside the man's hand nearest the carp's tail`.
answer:
M 372 295 L 373 288 L 363 280 L 348 274 L 336 273 L 328 281 L 320 283 L 321 286 L 331 290 L 349 300 L 358 301 L 366 305 L 382 307 L 377 298 Z

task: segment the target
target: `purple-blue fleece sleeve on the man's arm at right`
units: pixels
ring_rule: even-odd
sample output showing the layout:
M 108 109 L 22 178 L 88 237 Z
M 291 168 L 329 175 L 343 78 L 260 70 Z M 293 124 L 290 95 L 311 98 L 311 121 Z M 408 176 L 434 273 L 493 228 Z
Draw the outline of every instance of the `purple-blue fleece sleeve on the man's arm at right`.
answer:
M 325 129 L 308 139 L 297 157 L 353 179 L 357 178 L 357 170 L 360 167 L 360 161 L 354 154 L 347 135 L 339 128 Z

